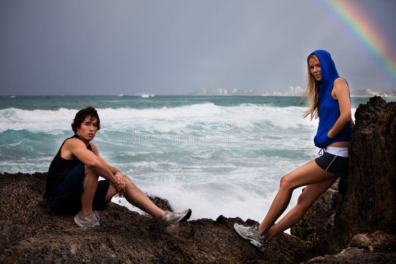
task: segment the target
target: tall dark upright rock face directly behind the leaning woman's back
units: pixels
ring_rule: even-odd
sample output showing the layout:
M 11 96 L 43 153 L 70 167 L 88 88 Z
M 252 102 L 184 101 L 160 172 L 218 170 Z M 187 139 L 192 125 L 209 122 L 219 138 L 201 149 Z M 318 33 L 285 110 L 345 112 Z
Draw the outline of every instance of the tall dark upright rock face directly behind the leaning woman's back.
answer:
M 343 201 L 335 226 L 344 243 L 357 233 L 396 234 L 396 102 L 370 98 L 356 109 L 355 119 L 352 169 L 340 183 Z

